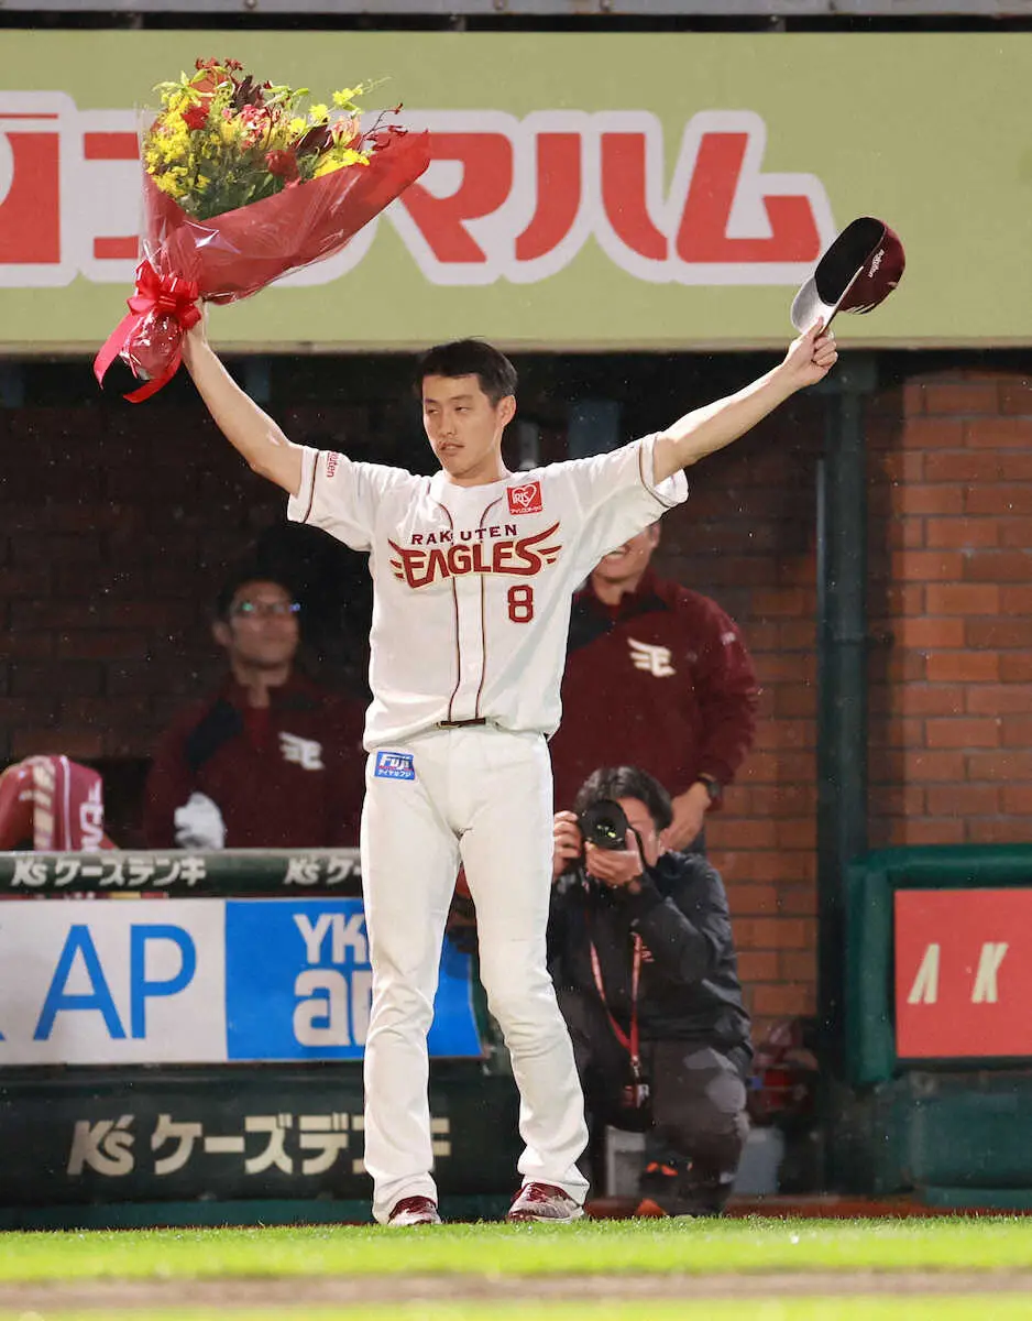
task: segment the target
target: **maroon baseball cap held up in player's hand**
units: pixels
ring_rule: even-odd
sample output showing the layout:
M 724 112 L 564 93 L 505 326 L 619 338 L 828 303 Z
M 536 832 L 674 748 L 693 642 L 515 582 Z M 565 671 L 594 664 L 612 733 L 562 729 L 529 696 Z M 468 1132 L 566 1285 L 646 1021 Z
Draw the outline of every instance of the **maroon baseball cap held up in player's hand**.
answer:
M 800 330 L 837 312 L 870 312 L 903 276 L 903 244 L 884 221 L 862 215 L 847 225 L 817 263 L 792 303 L 792 325 Z

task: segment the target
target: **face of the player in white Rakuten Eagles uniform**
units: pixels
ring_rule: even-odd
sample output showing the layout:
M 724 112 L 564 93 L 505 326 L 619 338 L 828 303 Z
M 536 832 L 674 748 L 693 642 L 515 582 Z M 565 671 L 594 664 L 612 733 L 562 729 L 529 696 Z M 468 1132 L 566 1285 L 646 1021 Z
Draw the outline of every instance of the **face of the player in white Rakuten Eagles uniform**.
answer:
M 516 413 L 505 395 L 492 404 L 478 376 L 424 376 L 422 424 L 437 461 L 459 486 L 498 481 L 501 432 Z

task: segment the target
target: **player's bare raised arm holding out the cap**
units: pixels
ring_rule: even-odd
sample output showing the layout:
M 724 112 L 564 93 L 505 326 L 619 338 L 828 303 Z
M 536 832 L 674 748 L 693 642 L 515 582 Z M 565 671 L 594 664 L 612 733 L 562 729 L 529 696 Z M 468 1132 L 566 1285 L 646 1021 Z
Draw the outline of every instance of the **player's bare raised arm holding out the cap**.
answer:
M 681 468 L 723 449 L 773 412 L 785 399 L 823 380 L 838 361 L 835 337 L 822 333 L 823 322 L 792 342 L 783 362 L 738 394 L 695 408 L 668 427 L 656 441 L 655 480 L 664 481 Z

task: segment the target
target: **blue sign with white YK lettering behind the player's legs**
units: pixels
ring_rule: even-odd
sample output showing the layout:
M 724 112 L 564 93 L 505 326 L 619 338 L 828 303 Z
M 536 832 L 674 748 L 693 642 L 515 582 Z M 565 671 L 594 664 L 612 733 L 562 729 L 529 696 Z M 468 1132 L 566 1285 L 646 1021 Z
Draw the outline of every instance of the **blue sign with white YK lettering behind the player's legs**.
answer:
M 371 993 L 360 900 L 226 901 L 228 1059 L 360 1059 Z M 447 941 L 428 1046 L 483 1053 L 470 958 Z

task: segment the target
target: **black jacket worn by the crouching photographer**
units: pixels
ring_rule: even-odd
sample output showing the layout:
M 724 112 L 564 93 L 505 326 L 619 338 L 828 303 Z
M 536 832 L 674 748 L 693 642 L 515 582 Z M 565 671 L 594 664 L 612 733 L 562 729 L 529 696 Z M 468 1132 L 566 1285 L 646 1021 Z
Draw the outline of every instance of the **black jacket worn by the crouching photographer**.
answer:
M 590 945 L 614 1018 L 631 1013 L 632 935 L 644 945 L 637 1021 L 643 1041 L 750 1049 L 723 881 L 697 853 L 664 853 L 640 894 L 562 876 L 552 888 L 548 966 L 556 987 L 598 996 Z

